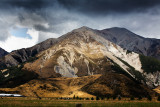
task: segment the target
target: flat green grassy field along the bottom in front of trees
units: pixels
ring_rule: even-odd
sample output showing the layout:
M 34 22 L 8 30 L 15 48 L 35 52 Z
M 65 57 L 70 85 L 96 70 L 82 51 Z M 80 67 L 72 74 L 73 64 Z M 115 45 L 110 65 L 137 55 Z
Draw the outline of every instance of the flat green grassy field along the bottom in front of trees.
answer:
M 50 98 L 0 98 L 0 107 L 18 107 L 18 106 L 54 106 L 54 107 L 76 107 L 82 104 L 82 107 L 160 107 L 157 101 L 90 101 L 90 100 L 55 100 Z

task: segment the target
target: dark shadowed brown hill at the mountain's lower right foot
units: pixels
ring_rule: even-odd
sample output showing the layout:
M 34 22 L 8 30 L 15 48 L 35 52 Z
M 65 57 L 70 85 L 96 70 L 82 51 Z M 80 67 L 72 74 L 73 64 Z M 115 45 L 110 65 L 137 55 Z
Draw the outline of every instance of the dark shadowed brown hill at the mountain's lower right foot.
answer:
M 82 90 L 96 96 L 147 97 L 155 93 L 146 86 L 129 79 L 123 74 L 106 73 L 85 85 Z

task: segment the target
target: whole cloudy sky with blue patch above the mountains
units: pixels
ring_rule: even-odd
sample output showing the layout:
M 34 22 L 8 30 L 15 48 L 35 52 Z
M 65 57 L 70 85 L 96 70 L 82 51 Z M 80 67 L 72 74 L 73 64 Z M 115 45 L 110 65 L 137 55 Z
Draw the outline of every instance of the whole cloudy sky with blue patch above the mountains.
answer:
M 160 0 L 0 0 L 0 47 L 9 52 L 81 26 L 160 39 Z

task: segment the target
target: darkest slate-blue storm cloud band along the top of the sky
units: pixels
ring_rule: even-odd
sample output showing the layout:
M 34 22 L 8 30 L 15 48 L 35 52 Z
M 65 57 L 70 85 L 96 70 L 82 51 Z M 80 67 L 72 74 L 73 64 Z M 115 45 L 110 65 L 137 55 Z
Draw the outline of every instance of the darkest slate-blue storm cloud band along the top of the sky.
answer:
M 87 14 L 128 13 L 144 12 L 148 8 L 159 6 L 160 0 L 0 0 L 0 8 L 35 10 L 53 5 Z

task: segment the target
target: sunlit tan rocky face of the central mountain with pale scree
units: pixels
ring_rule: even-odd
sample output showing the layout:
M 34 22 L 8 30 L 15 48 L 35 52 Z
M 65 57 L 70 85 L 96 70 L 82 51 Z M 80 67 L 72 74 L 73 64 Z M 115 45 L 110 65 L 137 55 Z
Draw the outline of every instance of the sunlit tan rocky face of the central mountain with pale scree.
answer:
M 42 77 L 54 77 L 56 74 L 64 77 L 94 75 L 106 72 L 114 63 L 134 77 L 135 75 L 128 70 L 130 68 L 120 59 L 142 72 L 138 54 L 127 54 L 127 50 L 123 50 L 86 27 L 64 35 L 57 44 L 38 54 L 37 57 L 33 63 L 25 64 L 24 68 L 36 71 Z

